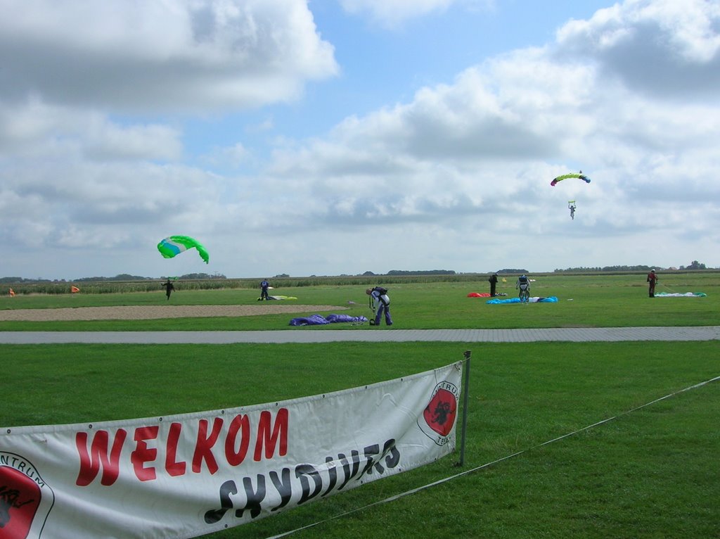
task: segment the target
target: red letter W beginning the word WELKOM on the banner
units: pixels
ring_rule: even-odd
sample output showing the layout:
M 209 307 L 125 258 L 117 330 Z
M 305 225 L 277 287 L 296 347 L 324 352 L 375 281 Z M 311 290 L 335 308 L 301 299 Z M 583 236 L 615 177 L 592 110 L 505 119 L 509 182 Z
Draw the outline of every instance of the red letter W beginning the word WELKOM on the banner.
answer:
M 75 436 L 75 445 L 80 457 L 80 471 L 75 481 L 76 485 L 88 486 L 91 484 L 100 471 L 101 465 L 100 484 L 112 485 L 120 474 L 120 451 L 122 444 L 125 443 L 125 437 L 127 437 L 125 429 L 117 429 L 108 458 L 109 434 L 107 430 L 99 430 L 95 433 L 89 451 L 87 432 L 78 432 Z

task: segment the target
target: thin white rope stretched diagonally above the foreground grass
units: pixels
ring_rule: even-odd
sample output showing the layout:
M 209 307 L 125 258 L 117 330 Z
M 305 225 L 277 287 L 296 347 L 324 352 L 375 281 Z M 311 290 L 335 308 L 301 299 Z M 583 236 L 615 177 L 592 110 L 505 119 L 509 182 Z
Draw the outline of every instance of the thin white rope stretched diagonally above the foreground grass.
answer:
M 518 451 L 517 453 L 513 453 L 512 455 L 507 455 L 507 456 L 505 456 L 505 457 L 503 457 L 503 458 L 498 458 L 498 460 L 492 460 L 492 462 L 482 464 L 482 465 L 480 465 L 480 466 L 477 466 L 476 468 L 472 468 L 472 469 L 470 469 L 470 470 L 466 470 L 466 471 L 462 471 L 462 472 L 460 472 L 460 473 L 456 473 L 454 476 L 449 476 L 449 477 L 446 477 L 446 478 L 438 479 L 438 481 L 433 481 L 433 483 L 428 483 L 428 484 L 423 485 L 423 486 L 418 486 L 418 487 L 415 488 L 415 489 L 410 489 L 410 490 L 405 491 L 405 492 L 402 492 L 402 493 L 400 493 L 400 494 L 395 494 L 395 496 L 390 496 L 389 498 L 385 498 L 385 499 L 379 500 L 379 501 L 377 501 L 377 502 L 373 502 L 372 504 L 367 504 L 367 505 L 364 505 L 363 507 L 359 507 L 359 508 L 357 508 L 357 509 L 352 509 L 351 511 L 346 511 L 346 512 L 341 513 L 341 514 L 336 514 L 335 516 L 330 517 L 330 518 L 326 518 L 325 520 L 320 520 L 319 522 L 312 522 L 312 524 L 308 524 L 308 525 L 306 525 L 306 526 L 298 527 L 298 528 L 295 528 L 294 530 L 290 530 L 289 532 L 284 532 L 284 533 L 281 533 L 281 534 L 279 534 L 279 535 L 273 535 L 273 536 L 268 537 L 268 538 L 266 538 L 266 539 L 279 539 L 279 538 L 287 537 L 288 535 L 292 535 L 292 534 L 295 533 L 295 532 L 300 532 L 300 531 L 302 531 L 302 530 L 307 530 L 307 529 L 310 528 L 310 527 L 315 527 L 315 526 L 318 526 L 318 525 L 320 525 L 320 524 L 325 524 L 325 522 L 330 522 L 331 520 L 337 520 L 338 518 L 346 517 L 346 516 L 348 516 L 348 514 L 354 514 L 354 513 L 359 512 L 359 511 L 364 511 L 365 509 L 369 509 L 370 507 L 375 507 L 376 505 L 382 505 L 382 504 L 387 504 L 387 503 L 390 503 L 390 502 L 395 502 L 395 500 L 397 500 L 397 499 L 404 498 L 405 496 L 410 496 L 410 494 L 415 494 L 415 493 L 420 492 L 420 491 L 423 491 L 423 490 L 425 490 L 425 489 L 429 489 L 429 488 L 431 488 L 431 486 L 437 486 L 437 485 L 446 483 L 447 481 L 451 481 L 451 480 L 453 480 L 453 479 L 456 479 L 456 478 L 459 478 L 459 477 L 462 477 L 462 476 L 467 476 L 469 473 L 474 473 L 474 472 L 480 471 L 480 470 L 482 470 L 482 469 L 484 469 L 484 468 L 489 468 L 489 467 L 492 466 L 492 465 L 495 465 L 495 464 L 498 464 L 498 463 L 503 462 L 503 460 L 508 460 L 508 459 L 510 459 L 510 458 L 517 457 L 518 455 L 522 455 L 523 453 L 528 453 L 528 451 L 532 451 L 532 450 L 534 450 L 534 449 L 538 449 L 539 447 L 543 447 L 544 445 L 552 444 L 553 442 L 557 442 L 557 441 L 559 441 L 559 440 L 563 440 L 564 438 L 577 435 L 577 434 L 580 433 L 580 432 L 584 432 L 584 431 L 589 430 L 589 429 L 592 429 L 592 428 L 594 428 L 594 427 L 598 427 L 598 426 L 601 425 L 601 424 L 611 422 L 611 421 L 613 421 L 613 419 L 618 419 L 618 417 L 626 416 L 626 415 L 628 415 L 628 414 L 631 414 L 631 413 L 634 412 L 634 411 L 638 411 L 639 409 L 643 409 L 643 408 L 645 408 L 646 406 L 650 406 L 650 405 L 655 404 L 655 403 L 657 403 L 657 402 L 664 401 L 666 398 L 670 398 L 670 397 L 673 397 L 673 396 L 675 396 L 675 395 L 679 395 L 680 393 L 684 393 L 685 391 L 690 391 L 691 389 L 701 388 L 702 386 L 705 386 L 705 385 L 708 384 L 708 383 L 716 382 L 716 381 L 718 381 L 718 380 L 720 380 L 720 376 L 716 376 L 715 378 L 710 378 L 710 380 L 705 380 L 704 382 L 696 383 L 694 386 L 689 386 L 689 387 L 687 387 L 687 388 L 679 389 L 678 391 L 674 391 L 674 392 L 672 392 L 672 393 L 668 393 L 668 394 L 665 395 L 665 396 L 662 396 L 662 397 L 660 397 L 660 398 L 656 398 L 654 401 L 650 401 L 650 402 L 647 402 L 647 403 L 645 403 L 645 404 L 641 404 L 640 406 L 636 406 L 635 408 L 629 409 L 628 411 L 624 411 L 624 412 L 622 412 L 621 414 L 618 414 L 618 415 L 616 415 L 616 416 L 608 417 L 608 419 L 603 419 L 602 421 L 598 421 L 597 423 L 590 424 L 590 425 L 588 425 L 587 427 L 582 427 L 582 428 L 577 429 L 577 430 L 575 430 L 575 431 L 573 431 L 573 432 L 568 432 L 566 435 L 562 435 L 562 436 L 559 436 L 559 437 L 557 437 L 557 438 L 553 438 L 552 440 L 548 440 L 548 441 L 546 441 L 546 442 L 542 442 L 541 444 L 534 445 L 534 446 L 532 446 L 532 447 L 528 447 L 527 449 L 523 449 L 523 450 L 521 450 L 521 451 Z

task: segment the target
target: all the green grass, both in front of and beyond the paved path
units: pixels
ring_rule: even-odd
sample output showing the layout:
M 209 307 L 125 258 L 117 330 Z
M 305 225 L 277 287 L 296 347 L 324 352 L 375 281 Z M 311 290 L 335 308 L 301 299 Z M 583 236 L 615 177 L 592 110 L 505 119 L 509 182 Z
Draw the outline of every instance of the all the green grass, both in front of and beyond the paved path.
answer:
M 500 291 L 510 293 L 513 285 L 505 283 Z M 487 291 L 483 281 L 393 285 L 393 328 L 720 324 L 718 274 L 667 276 L 668 291 L 704 292 L 706 298 L 649 299 L 637 275 L 549 276 L 534 285 L 533 295 L 556 295 L 559 303 L 488 306 L 465 297 Z M 323 285 L 287 295 L 303 304 L 342 306 L 355 300 L 359 305 L 344 312 L 366 314 L 363 290 Z M 179 290 L 171 301 L 255 299 L 253 290 Z M 1 298 L 0 309 L 163 301 L 161 292 L 29 296 Z M 289 328 L 288 319 L 4 322 L 0 330 L 336 329 Z M 4 345 L 0 425 L 97 422 L 264 403 L 418 373 L 461 360 L 466 349 L 472 350 L 472 373 L 462 468 L 454 465 L 456 453 L 208 537 L 266 538 L 325 520 L 292 537 L 720 537 L 720 383 L 636 409 L 720 375 L 717 341 Z M 541 445 L 609 418 L 615 419 Z M 367 507 L 518 451 L 523 453 Z

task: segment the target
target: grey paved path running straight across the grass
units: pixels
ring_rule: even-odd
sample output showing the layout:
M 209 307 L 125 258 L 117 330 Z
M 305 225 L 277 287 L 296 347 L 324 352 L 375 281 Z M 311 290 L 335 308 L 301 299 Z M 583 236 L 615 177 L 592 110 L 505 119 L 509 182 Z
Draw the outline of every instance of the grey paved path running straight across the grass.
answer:
M 618 342 L 720 340 L 720 326 L 548 329 L 299 329 L 284 331 L 0 331 L 0 344 L 233 342 Z

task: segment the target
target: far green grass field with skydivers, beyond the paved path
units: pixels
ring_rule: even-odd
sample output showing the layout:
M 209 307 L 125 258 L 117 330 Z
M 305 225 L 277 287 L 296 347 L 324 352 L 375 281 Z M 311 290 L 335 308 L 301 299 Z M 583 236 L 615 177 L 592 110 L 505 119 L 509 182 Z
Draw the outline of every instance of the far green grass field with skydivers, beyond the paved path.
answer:
M 487 292 L 487 280 L 463 282 L 400 282 L 390 286 L 392 313 L 398 328 L 541 328 L 611 326 L 716 326 L 720 325 L 720 273 L 695 272 L 660 275 L 657 292 L 703 292 L 706 298 L 647 297 L 644 275 L 541 275 L 534 277 L 532 295 L 555 296 L 558 303 L 531 306 L 487 305 L 485 298 L 467 298 L 471 292 Z M 338 280 L 341 282 L 341 280 Z M 0 311 L 13 308 L 58 308 L 127 305 L 258 305 L 258 290 L 184 290 L 183 283 L 168 302 L 158 287 L 152 293 L 18 295 L 0 297 Z M 297 297 L 292 303 L 347 307 L 339 312 L 369 314 L 366 285 L 319 285 L 278 288 L 274 293 Z M 498 292 L 516 295 L 515 280 L 498 283 Z M 354 305 L 348 301 L 355 302 Z M 278 302 L 280 303 L 280 302 Z M 282 302 L 291 303 L 291 301 Z M 312 314 L 246 316 L 239 318 L 171 318 L 145 321 L 0 321 L 0 331 L 193 331 L 262 330 L 328 331 L 346 329 L 343 324 L 321 328 L 293 328 L 290 318 Z M 358 329 L 377 331 L 364 326 Z M 384 326 L 382 328 L 384 330 Z M 391 330 L 392 331 L 392 330 Z

